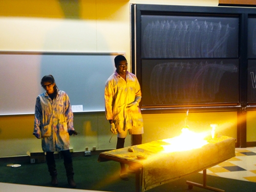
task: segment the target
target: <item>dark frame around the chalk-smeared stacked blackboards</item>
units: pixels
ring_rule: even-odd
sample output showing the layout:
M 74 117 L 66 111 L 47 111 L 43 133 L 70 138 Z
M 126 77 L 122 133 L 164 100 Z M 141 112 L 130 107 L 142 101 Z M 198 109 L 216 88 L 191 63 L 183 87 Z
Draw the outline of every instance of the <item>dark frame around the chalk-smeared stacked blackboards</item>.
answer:
M 238 72 L 238 86 L 239 90 L 236 93 L 238 96 L 237 102 L 222 102 L 222 103 L 197 103 L 197 104 L 175 104 L 175 105 L 145 105 L 142 101 L 140 103 L 141 110 L 144 113 L 155 112 L 184 112 L 185 109 L 194 111 L 239 111 L 246 107 L 253 107 L 255 102 L 247 102 L 247 36 L 248 36 L 248 18 L 255 15 L 253 8 L 239 8 L 239 7 L 198 7 L 198 6 L 169 6 L 169 5 L 131 5 L 131 61 L 132 72 L 136 74 L 142 86 L 142 53 L 141 53 L 141 38 L 142 27 L 141 17 L 143 15 L 179 15 L 179 16 L 209 16 L 209 17 L 237 17 L 239 19 L 238 29 L 238 56 L 239 72 Z M 143 87 L 142 87 L 143 89 Z

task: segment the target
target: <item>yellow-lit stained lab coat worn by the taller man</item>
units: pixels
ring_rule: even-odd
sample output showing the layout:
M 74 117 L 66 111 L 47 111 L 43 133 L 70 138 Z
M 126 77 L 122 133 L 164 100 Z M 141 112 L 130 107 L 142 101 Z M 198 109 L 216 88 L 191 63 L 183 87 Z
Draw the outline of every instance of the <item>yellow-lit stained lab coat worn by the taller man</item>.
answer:
M 115 72 L 105 83 L 105 116 L 115 123 L 118 133 L 143 134 L 143 119 L 139 108 L 140 84 L 137 77 L 126 71 L 126 81 Z M 126 108 L 136 101 L 136 106 Z

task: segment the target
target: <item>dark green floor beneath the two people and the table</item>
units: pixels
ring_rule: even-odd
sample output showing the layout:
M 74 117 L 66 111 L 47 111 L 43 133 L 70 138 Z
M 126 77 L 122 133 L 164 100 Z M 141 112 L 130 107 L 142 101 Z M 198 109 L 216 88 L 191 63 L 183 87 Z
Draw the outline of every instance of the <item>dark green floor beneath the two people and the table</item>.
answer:
M 135 174 L 129 172 L 129 181 L 119 178 L 119 163 L 114 161 L 97 162 L 98 155 L 88 157 L 73 157 L 75 170 L 74 179 L 78 189 L 104 190 L 104 191 L 135 191 Z M 7 164 L 21 164 L 20 167 L 10 167 Z M 69 188 L 63 166 L 63 159 L 56 159 L 58 170 L 57 187 Z M 46 163 L 30 164 L 28 161 L 0 161 L 0 182 L 28 184 L 38 186 L 51 186 Z M 179 180 L 147 190 L 148 192 L 178 192 L 178 191 L 210 191 L 194 186 L 188 189 L 186 180 L 202 183 L 202 174 L 196 173 Z M 220 188 L 226 192 L 252 192 L 256 191 L 256 183 L 207 175 L 207 185 Z

